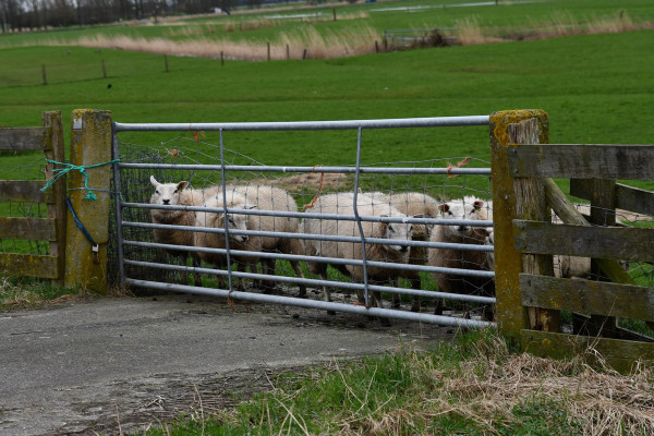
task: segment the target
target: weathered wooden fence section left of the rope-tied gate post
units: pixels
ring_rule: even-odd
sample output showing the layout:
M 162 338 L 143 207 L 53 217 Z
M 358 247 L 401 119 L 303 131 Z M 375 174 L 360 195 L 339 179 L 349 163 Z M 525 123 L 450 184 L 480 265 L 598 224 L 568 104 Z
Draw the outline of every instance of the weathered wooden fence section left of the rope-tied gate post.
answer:
M 64 160 L 61 112 L 44 112 L 43 126 L 0 129 L 0 150 L 41 150 L 50 160 Z M 46 179 L 52 178 L 52 164 Z M 43 180 L 0 180 L 0 203 L 45 203 L 47 218 L 0 217 L 0 239 L 49 241 L 48 255 L 0 253 L 0 274 L 52 279 L 63 284 L 65 267 L 65 178 L 46 192 Z

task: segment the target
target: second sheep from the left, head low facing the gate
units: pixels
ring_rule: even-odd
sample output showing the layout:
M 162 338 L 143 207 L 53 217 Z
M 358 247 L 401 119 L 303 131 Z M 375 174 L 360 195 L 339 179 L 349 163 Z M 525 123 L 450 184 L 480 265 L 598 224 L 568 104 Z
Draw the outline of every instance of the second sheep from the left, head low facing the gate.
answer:
M 247 204 L 245 196 L 240 193 L 237 193 L 234 191 L 226 191 L 226 194 L 228 208 L 251 209 L 254 207 L 253 205 Z M 225 204 L 226 203 L 222 199 L 222 192 L 218 192 L 216 195 L 211 196 L 210 198 L 207 198 L 204 206 L 221 208 L 225 207 Z M 225 229 L 225 221 L 226 219 L 223 213 L 198 211 L 195 214 L 195 227 Z M 249 216 L 245 214 L 227 214 L 227 225 L 229 230 L 247 230 L 247 221 Z M 245 234 L 230 233 L 230 250 L 250 250 L 250 246 L 247 245 L 249 240 L 250 238 Z M 227 241 L 225 239 L 225 234 L 196 231 L 194 232 L 194 244 L 199 247 L 225 250 L 227 246 Z M 227 265 L 227 255 L 225 254 L 199 252 L 198 257 L 202 261 L 205 261 L 217 268 Z M 254 268 L 253 265 L 256 265 L 257 262 L 256 256 L 232 255 L 230 258 L 238 265 L 238 270 L 241 272 L 245 271 L 245 266 L 247 265 L 251 266 L 252 270 Z M 223 286 L 221 276 L 218 276 L 218 282 L 219 287 Z M 242 277 L 239 278 L 238 289 L 241 291 L 245 290 L 245 279 Z

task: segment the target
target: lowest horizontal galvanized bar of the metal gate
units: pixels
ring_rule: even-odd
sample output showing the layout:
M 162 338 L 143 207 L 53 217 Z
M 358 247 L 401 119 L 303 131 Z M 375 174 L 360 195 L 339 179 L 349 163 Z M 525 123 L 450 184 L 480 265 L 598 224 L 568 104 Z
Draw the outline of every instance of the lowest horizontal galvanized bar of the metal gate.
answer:
M 339 311 L 347 312 L 366 316 L 379 316 L 384 318 L 395 318 L 395 319 L 405 319 L 413 320 L 419 323 L 427 323 L 427 324 L 438 324 L 441 326 L 451 326 L 451 327 L 468 327 L 468 328 L 484 328 L 488 326 L 493 326 L 493 323 L 476 320 L 476 319 L 465 319 L 465 318 L 455 318 L 450 316 L 441 316 L 441 315 L 429 315 L 423 313 L 415 312 L 401 312 L 393 311 L 389 308 L 378 308 L 378 307 L 365 307 L 353 304 L 343 304 L 343 303 L 334 303 L 318 300 L 308 300 L 308 299 L 295 299 L 291 296 L 281 296 L 281 295 L 267 295 L 263 293 L 254 293 L 254 292 L 241 292 L 241 291 L 228 291 L 221 289 L 206 289 L 206 288 L 197 288 L 187 284 L 170 284 L 170 283 L 161 283 L 158 281 L 147 281 L 147 280 L 135 280 L 135 279 L 126 279 L 126 283 L 138 287 L 138 288 L 147 288 L 147 289 L 158 289 L 162 291 L 182 291 L 187 293 L 194 293 L 199 295 L 211 295 L 211 296 L 222 296 L 230 298 L 232 300 L 245 300 L 245 301 L 254 301 L 258 303 L 274 303 L 274 304 L 287 304 L 299 307 L 306 308 L 318 308 L 324 311 Z

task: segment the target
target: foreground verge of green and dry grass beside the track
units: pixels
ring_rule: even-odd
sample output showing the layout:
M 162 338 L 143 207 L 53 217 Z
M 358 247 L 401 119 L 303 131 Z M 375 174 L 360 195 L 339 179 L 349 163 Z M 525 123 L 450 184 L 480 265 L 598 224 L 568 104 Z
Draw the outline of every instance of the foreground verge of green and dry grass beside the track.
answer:
M 146 435 L 645 435 L 654 429 L 654 373 L 629 376 L 511 350 L 494 330 L 431 350 L 405 344 L 363 361 L 334 361 L 211 416 L 165 424 Z

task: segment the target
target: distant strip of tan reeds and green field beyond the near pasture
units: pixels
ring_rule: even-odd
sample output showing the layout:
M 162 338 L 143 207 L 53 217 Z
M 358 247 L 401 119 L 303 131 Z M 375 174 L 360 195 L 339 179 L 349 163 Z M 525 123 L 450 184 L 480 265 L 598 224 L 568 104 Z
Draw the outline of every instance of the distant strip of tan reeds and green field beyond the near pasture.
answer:
M 336 20 L 335 20 L 336 19 Z M 232 15 L 154 17 L 90 28 L 3 35 L 1 47 L 83 45 L 229 59 L 325 59 L 372 53 L 387 31 L 446 29 L 458 44 L 615 33 L 654 25 L 645 0 L 389 1 L 287 5 Z M 305 51 L 306 50 L 306 51 Z

